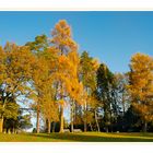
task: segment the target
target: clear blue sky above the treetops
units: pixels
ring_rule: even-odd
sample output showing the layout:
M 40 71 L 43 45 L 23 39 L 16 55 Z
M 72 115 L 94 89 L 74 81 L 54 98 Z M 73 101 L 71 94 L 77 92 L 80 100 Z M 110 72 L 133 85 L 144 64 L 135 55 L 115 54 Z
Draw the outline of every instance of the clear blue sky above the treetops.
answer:
M 0 45 L 50 37 L 61 19 L 71 25 L 79 51 L 87 50 L 113 72 L 128 71 L 134 52 L 153 56 L 153 12 L 0 12 Z

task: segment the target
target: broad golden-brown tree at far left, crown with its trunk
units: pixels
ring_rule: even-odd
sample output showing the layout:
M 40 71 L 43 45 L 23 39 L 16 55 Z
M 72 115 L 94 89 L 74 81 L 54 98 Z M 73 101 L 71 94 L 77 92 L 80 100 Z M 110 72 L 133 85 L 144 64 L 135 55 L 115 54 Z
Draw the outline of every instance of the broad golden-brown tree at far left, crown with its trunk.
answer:
M 32 78 L 33 55 L 24 46 L 8 43 L 0 49 L 1 62 L 1 107 L 7 107 L 10 97 L 27 95 L 31 89 L 27 82 Z M 0 132 L 2 132 L 4 111 L 1 111 Z

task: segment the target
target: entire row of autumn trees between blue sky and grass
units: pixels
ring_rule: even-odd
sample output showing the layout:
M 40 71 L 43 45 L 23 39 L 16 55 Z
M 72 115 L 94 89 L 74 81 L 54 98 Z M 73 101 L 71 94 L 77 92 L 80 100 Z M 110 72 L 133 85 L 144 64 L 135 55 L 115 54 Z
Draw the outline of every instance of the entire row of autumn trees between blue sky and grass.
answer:
M 129 68 L 114 73 L 80 54 L 66 20 L 49 37 L 7 43 L 0 46 L 0 132 L 32 128 L 32 117 L 36 132 L 152 131 L 153 57 L 138 52 Z

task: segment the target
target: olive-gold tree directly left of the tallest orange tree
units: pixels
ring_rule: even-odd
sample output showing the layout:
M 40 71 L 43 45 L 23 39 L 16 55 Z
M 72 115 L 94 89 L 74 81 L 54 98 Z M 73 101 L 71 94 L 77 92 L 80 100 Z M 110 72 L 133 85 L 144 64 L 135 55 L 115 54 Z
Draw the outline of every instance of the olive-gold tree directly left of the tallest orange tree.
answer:
M 40 114 L 45 115 L 45 118 L 50 122 L 52 117 L 56 118 L 56 104 L 55 104 L 55 90 L 54 90 L 54 78 L 51 71 L 54 67 L 54 49 L 48 48 L 46 51 L 39 54 L 36 58 L 36 63 L 33 67 L 33 87 L 36 95 L 35 107 L 37 111 L 37 132 L 39 132 L 39 117 Z M 52 117 L 51 117 L 52 116 Z M 49 126 L 49 125 L 48 125 Z

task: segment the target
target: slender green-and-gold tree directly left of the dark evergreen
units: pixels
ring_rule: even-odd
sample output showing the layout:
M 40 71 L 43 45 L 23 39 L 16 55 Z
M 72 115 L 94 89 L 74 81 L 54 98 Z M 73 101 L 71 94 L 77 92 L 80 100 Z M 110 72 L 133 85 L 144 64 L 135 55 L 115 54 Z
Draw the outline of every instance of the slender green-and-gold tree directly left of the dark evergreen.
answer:
M 89 56 L 86 51 L 83 51 L 80 60 L 80 80 L 83 83 L 84 91 L 86 92 L 86 99 L 84 99 L 84 131 L 86 131 L 86 125 L 90 123 L 90 118 L 87 119 L 87 111 L 91 109 L 91 104 L 94 103 L 92 94 L 96 90 L 96 70 L 98 68 L 98 62 L 96 59 Z M 95 108 L 96 111 L 96 108 Z

